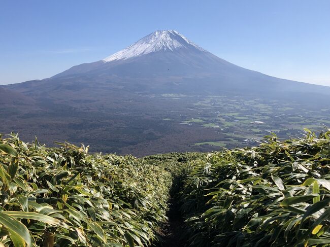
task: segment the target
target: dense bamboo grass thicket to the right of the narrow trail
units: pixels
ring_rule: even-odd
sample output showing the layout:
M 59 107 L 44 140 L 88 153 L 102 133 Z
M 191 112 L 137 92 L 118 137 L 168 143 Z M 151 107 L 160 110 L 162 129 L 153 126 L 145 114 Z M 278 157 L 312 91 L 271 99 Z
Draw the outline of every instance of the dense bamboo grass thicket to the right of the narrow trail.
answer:
M 329 246 L 330 130 L 190 164 L 181 210 L 191 246 Z

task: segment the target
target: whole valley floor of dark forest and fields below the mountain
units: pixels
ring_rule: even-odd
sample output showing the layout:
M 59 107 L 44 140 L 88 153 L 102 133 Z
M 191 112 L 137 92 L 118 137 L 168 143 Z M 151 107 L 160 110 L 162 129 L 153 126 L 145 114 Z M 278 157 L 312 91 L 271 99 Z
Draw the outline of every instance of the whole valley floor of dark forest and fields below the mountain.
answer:
M 71 97 L 67 97 L 71 98 Z M 330 111 L 300 104 L 230 95 L 136 92 L 88 100 L 0 104 L 0 132 L 27 142 L 68 141 L 91 152 L 143 157 L 169 152 L 210 152 L 258 145 L 270 131 L 280 138 L 330 125 Z

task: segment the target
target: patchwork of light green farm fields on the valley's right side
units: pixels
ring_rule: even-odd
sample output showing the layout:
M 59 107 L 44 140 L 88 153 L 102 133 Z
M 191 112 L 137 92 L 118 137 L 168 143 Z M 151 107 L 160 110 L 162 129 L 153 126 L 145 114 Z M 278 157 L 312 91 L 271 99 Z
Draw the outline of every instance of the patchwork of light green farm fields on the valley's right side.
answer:
M 162 96 L 173 100 L 173 95 Z M 300 135 L 303 128 L 320 131 L 330 124 L 328 109 L 313 110 L 294 102 L 247 100 L 239 96 L 199 96 L 197 102 L 194 102 L 196 97 L 188 95 L 175 95 L 175 99 L 184 102 L 190 99 L 191 106 L 185 113 L 171 115 L 172 120 L 198 127 L 201 132 L 205 128 L 214 128 L 214 137 L 194 143 L 195 146 L 234 148 L 256 145 L 270 132 L 280 138 L 289 138 Z

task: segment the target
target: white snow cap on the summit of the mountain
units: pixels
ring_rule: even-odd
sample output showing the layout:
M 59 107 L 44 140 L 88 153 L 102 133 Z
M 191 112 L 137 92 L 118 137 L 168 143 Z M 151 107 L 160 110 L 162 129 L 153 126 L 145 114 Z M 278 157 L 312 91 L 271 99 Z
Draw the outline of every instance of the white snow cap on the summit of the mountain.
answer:
M 125 60 L 156 51 L 174 51 L 181 48 L 193 48 L 205 51 L 175 30 L 157 30 L 133 45 L 103 59 L 104 62 Z

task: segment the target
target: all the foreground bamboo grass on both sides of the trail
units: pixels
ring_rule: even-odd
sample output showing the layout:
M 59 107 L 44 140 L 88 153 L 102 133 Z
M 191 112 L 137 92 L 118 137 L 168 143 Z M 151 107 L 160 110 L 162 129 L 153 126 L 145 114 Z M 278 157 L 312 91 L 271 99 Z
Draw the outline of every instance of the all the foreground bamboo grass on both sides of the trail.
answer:
M 330 130 L 144 159 L 0 139 L 11 246 L 149 246 L 175 197 L 187 246 L 330 245 Z M 173 206 L 173 205 L 171 205 Z

